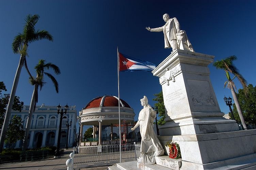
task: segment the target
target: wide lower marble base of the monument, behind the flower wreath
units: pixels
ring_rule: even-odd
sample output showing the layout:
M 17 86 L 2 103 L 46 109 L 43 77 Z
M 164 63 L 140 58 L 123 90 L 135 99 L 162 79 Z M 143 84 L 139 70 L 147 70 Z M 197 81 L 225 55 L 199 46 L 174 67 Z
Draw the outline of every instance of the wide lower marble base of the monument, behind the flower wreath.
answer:
M 182 170 L 256 169 L 256 130 L 158 138 L 162 146 L 170 140 L 179 144 Z

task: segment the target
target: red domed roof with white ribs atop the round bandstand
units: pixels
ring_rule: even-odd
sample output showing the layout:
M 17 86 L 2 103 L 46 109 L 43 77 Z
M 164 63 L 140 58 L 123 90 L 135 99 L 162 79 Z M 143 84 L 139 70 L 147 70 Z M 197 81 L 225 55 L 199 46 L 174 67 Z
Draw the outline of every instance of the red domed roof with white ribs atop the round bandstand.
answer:
M 103 98 L 103 99 L 102 99 Z M 115 96 L 101 96 L 93 99 L 90 101 L 84 109 L 87 108 L 94 108 L 94 107 L 118 107 L 118 98 Z M 127 104 L 124 100 L 120 99 L 120 107 L 129 107 L 129 104 Z

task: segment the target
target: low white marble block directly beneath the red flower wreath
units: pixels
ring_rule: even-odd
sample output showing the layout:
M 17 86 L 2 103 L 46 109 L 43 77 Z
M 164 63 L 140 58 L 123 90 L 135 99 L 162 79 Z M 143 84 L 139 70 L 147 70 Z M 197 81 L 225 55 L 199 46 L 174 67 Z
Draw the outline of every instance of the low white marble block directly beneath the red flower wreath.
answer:
M 172 159 L 169 156 L 155 156 L 156 164 L 169 169 L 179 169 L 181 167 L 181 158 Z

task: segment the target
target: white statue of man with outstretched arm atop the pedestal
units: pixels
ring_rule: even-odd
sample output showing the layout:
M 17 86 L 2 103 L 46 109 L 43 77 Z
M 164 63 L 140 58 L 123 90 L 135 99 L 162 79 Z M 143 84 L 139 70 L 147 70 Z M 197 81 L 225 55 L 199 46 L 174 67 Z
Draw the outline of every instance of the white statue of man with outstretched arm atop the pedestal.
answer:
M 186 32 L 180 30 L 179 21 L 177 20 L 177 18 L 170 18 L 168 14 L 164 14 L 163 20 L 166 22 L 164 26 L 159 28 L 146 27 L 146 29 L 150 32 L 163 31 L 164 48 L 172 47 L 173 51 L 176 49 L 181 49 L 194 52 L 194 49 L 188 40 Z

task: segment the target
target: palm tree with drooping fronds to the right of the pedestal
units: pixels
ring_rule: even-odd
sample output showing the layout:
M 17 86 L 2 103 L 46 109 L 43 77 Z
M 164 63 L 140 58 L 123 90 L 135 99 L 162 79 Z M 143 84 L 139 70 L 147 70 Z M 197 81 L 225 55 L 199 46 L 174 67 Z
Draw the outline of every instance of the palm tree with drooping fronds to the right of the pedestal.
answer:
M 224 88 L 227 85 L 227 88 L 229 88 L 231 90 L 231 94 L 232 94 L 234 102 L 236 104 L 237 112 L 238 112 L 239 117 L 241 119 L 243 128 L 245 130 L 247 130 L 246 124 L 245 124 L 245 121 L 244 121 L 244 118 L 243 118 L 242 110 L 241 110 L 240 104 L 238 102 L 236 92 L 234 90 L 234 89 L 237 90 L 237 88 L 236 88 L 235 83 L 233 82 L 233 80 L 237 77 L 238 81 L 243 86 L 245 95 L 246 95 L 246 92 L 247 92 L 247 82 L 243 78 L 243 76 L 239 73 L 239 70 L 236 68 L 236 66 L 233 64 L 234 60 L 237 60 L 237 57 L 235 55 L 232 55 L 232 56 L 227 57 L 225 59 L 222 59 L 220 61 L 215 61 L 213 63 L 213 66 L 215 66 L 217 69 L 225 70 L 225 75 L 226 75 L 228 81 L 226 81 L 224 83 Z M 235 75 L 235 77 L 233 79 L 230 78 L 229 72 Z

